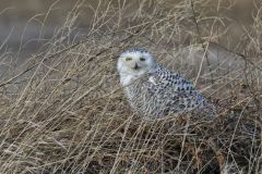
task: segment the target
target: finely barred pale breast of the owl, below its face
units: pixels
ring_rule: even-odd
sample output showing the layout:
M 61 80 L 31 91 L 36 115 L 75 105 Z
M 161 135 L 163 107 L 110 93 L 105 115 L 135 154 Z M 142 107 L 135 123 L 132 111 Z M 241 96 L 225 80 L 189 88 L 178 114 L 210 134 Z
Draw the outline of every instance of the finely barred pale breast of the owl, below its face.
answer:
M 147 117 L 163 117 L 170 112 L 176 113 L 179 109 L 179 98 L 170 96 L 165 90 L 160 90 L 156 85 L 151 85 L 147 76 L 130 84 L 126 89 L 126 96 L 132 109 Z M 176 103 L 177 102 L 177 103 Z M 170 110 L 171 109 L 171 110 Z

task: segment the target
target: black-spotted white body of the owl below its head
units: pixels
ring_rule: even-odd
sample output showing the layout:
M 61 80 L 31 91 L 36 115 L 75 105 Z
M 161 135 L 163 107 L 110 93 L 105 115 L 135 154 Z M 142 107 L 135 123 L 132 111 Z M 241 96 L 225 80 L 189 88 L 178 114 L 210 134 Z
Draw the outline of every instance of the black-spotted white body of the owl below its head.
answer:
M 131 107 L 150 117 L 192 110 L 207 110 L 211 116 L 215 113 L 214 107 L 190 82 L 159 65 L 135 79 L 124 90 Z

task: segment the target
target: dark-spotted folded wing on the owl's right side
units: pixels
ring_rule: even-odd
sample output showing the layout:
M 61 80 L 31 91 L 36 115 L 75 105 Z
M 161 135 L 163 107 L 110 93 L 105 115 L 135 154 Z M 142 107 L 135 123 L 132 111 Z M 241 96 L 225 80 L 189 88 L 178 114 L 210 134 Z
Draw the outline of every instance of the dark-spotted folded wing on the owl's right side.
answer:
M 189 80 L 162 66 L 148 73 L 145 87 L 157 97 L 158 102 L 165 102 L 168 110 L 174 110 L 174 112 L 203 108 L 209 104 L 209 101 L 195 90 Z

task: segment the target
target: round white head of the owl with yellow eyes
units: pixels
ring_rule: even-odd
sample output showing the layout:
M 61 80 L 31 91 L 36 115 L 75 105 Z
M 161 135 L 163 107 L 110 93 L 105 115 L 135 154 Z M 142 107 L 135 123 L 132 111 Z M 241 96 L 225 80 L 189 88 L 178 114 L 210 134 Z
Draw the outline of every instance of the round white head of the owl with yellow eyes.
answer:
M 156 66 L 156 59 L 143 49 L 122 52 L 118 59 L 118 72 L 122 77 L 139 77 Z

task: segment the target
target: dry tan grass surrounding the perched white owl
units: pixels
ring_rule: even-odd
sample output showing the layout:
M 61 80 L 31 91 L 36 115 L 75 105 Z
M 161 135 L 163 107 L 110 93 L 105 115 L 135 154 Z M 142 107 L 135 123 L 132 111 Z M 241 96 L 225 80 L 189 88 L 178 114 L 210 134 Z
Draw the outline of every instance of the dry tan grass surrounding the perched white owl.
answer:
M 166 3 L 99 1 L 87 34 L 74 41 L 88 4 L 79 1 L 24 64 L 2 53 L 1 173 L 261 172 L 261 9 L 236 45 L 222 25 L 229 21 L 221 16 L 226 4 L 213 13 L 204 0 Z M 213 122 L 134 115 L 116 71 L 130 47 L 148 49 L 225 110 Z

